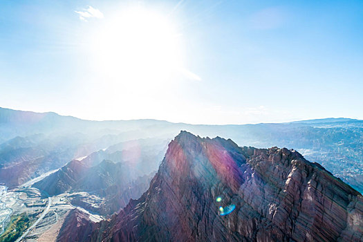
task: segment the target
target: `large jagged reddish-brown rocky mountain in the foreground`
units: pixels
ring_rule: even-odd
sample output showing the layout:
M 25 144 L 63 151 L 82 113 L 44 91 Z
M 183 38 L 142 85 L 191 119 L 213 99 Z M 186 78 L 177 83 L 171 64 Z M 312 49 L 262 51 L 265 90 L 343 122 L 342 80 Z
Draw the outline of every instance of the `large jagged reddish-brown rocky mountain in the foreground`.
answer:
M 361 241 L 363 198 L 297 151 L 182 131 L 147 192 L 87 241 Z M 89 231 L 92 231 L 89 233 Z M 88 235 L 86 235 L 88 234 Z

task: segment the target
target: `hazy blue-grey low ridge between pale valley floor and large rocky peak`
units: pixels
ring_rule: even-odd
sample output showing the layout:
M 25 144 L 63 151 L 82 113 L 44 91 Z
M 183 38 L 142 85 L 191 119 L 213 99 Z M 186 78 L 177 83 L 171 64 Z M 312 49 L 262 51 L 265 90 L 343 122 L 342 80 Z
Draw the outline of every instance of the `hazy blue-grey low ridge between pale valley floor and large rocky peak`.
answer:
M 134 178 L 129 166 L 122 162 L 103 160 L 89 166 L 87 160 L 72 160 L 33 186 L 50 196 L 76 193 L 68 196 L 73 205 L 97 214 L 110 215 L 125 207 L 131 198 L 140 198 L 149 188 L 154 174 L 155 171 Z M 83 196 L 78 192 L 82 192 Z M 91 199 L 93 195 L 100 198 L 96 199 L 97 204 Z

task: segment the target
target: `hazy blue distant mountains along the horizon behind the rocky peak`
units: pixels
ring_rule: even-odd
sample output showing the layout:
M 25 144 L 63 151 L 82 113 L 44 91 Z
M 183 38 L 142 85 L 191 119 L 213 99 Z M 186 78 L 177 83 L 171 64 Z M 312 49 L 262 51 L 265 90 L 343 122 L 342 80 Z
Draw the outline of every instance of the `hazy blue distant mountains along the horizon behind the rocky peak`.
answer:
M 327 118 L 277 124 L 194 125 L 159 120 L 89 121 L 3 108 L 0 183 L 15 187 L 118 142 L 171 140 L 180 130 L 231 138 L 241 146 L 296 149 L 363 192 L 363 120 Z

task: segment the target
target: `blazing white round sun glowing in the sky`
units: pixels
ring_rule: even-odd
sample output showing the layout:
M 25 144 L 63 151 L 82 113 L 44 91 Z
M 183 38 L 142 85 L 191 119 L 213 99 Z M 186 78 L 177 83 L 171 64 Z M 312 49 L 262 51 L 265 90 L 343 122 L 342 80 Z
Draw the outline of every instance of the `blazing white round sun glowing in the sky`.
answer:
M 118 82 L 170 80 L 183 66 L 180 34 L 166 15 L 145 8 L 118 12 L 93 38 L 97 68 Z

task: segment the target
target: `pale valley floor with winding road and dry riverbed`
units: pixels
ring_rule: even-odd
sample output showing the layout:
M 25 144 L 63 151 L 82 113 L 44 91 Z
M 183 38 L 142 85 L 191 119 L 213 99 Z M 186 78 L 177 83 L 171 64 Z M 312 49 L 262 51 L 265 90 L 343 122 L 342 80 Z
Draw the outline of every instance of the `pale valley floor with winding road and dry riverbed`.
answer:
M 48 196 L 35 187 L 30 187 L 55 171 L 47 172 L 31 180 L 30 182 L 12 189 L 2 186 L 0 192 L 0 239 L 6 241 L 8 236 L 6 230 L 11 225 L 10 218 L 25 216 L 29 218 L 30 225 L 19 234 L 16 241 L 55 241 L 57 234 L 64 223 L 64 219 L 71 210 L 80 210 L 89 215 L 91 221 L 97 222 L 103 219 L 102 216 L 93 214 L 88 210 L 71 204 L 71 198 L 81 196 L 84 200 L 92 197 L 91 204 L 97 206 L 97 200 L 86 192 L 77 194 L 60 194 Z

